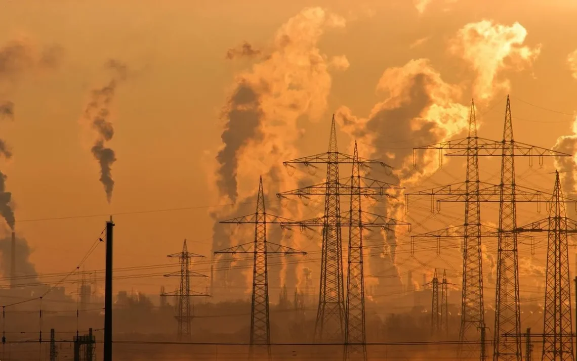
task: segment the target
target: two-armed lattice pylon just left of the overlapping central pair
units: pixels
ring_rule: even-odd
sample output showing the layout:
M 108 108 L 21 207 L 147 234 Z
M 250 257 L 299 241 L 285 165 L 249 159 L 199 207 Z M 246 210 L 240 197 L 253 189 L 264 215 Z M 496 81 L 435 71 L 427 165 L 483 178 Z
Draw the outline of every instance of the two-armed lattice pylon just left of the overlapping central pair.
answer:
M 271 359 L 271 324 L 268 305 L 267 254 L 306 254 L 290 247 L 267 241 L 267 223 L 294 223 L 289 219 L 269 215 L 264 205 L 263 177 L 258 182 L 256 212 L 220 223 L 254 224 L 254 241 L 216 251 L 215 254 L 253 254 L 252 307 L 250 311 L 250 359 L 260 354 Z M 258 354 L 258 355 L 257 355 Z

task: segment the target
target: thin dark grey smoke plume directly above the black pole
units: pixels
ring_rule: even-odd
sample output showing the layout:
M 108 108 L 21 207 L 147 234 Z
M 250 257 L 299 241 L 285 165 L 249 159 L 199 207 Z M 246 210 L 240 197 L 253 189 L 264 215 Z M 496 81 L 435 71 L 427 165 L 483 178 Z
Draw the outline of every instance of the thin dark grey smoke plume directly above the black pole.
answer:
M 98 138 L 91 151 L 100 165 L 100 182 L 104 186 L 106 200 L 110 203 L 114 189 L 112 164 L 116 161 L 113 149 L 106 146 L 106 142 L 112 140 L 114 136 L 114 127 L 109 120 L 110 103 L 114 98 L 119 82 L 126 79 L 128 69 L 126 65 L 114 59 L 109 60 L 106 67 L 113 72 L 113 77 L 107 85 L 92 91 L 92 100 L 88 104 L 84 116 L 98 133 Z

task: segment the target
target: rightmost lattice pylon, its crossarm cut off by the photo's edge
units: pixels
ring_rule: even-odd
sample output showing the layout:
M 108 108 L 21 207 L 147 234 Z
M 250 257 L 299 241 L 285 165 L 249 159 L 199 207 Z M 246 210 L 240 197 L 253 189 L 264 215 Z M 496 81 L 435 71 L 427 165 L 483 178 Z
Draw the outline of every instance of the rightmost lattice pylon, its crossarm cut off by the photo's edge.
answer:
M 567 218 L 564 205 L 567 201 L 575 202 L 563 197 L 559 172 L 556 171 L 549 217 L 516 230 L 548 232 L 542 361 L 575 361 L 567 234 L 577 232 L 577 221 Z

